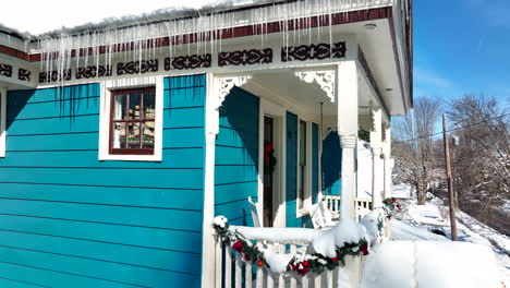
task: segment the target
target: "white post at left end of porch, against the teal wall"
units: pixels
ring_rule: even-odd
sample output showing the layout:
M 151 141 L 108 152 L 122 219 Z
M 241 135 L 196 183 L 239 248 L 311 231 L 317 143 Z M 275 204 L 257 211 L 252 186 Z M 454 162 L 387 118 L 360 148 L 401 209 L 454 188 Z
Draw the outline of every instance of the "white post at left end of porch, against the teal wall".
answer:
M 215 217 L 215 153 L 218 134 L 218 92 L 214 76 L 207 74 L 205 164 L 204 164 L 204 218 L 202 237 L 202 287 L 215 287 L 216 260 L 212 220 Z

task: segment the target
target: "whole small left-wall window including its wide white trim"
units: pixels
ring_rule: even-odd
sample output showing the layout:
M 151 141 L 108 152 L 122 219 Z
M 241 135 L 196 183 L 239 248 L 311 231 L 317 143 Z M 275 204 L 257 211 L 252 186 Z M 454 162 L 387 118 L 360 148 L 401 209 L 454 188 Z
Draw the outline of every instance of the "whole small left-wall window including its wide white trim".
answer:
M 163 76 L 100 83 L 99 160 L 161 161 Z

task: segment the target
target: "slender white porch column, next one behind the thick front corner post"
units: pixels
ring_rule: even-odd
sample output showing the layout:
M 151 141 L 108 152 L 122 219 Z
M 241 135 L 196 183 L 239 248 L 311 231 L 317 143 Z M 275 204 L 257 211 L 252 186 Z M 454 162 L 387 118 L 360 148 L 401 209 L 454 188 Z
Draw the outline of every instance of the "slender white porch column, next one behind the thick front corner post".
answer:
M 382 205 L 382 166 L 380 154 L 382 149 L 381 121 L 382 111 L 380 107 L 371 105 L 371 113 L 373 121 L 373 130 L 371 131 L 371 147 L 372 147 L 372 208 L 378 208 Z

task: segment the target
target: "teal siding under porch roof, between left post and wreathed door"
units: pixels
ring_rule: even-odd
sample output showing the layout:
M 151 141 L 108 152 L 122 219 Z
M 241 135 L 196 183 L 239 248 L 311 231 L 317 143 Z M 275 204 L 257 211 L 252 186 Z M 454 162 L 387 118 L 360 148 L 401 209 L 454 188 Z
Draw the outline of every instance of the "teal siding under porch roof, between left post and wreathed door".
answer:
M 215 213 L 253 226 L 247 197 L 258 191 L 258 97 L 234 87 L 220 108 L 216 140 Z

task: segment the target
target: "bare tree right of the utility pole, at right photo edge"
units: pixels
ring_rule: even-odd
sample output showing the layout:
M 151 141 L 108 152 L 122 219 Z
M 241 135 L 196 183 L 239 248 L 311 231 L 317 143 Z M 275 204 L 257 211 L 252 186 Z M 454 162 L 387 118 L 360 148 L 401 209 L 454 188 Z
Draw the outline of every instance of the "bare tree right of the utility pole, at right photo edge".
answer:
M 448 105 L 460 143 L 453 148 L 453 180 L 462 209 L 482 220 L 510 200 L 509 116 L 486 95 L 464 95 Z

